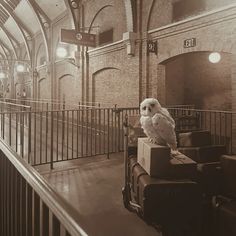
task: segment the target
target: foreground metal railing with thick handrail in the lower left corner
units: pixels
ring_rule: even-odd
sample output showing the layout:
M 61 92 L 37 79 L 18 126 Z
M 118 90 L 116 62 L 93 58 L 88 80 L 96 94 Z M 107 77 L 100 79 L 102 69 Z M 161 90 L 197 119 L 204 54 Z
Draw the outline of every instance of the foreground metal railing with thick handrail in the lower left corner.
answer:
M 80 216 L 0 140 L 0 235 L 85 236 Z

